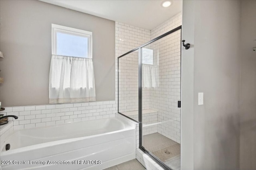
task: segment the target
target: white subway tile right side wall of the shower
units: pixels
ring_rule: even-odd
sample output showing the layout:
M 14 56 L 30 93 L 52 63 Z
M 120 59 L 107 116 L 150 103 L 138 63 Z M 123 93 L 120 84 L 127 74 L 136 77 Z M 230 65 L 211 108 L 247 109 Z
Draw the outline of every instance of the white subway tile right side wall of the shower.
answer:
M 176 14 L 151 31 L 152 39 L 182 24 L 182 14 Z M 158 112 L 157 132 L 180 143 L 180 38 L 176 31 L 152 44 L 159 50 L 159 88 L 150 88 L 150 109 Z

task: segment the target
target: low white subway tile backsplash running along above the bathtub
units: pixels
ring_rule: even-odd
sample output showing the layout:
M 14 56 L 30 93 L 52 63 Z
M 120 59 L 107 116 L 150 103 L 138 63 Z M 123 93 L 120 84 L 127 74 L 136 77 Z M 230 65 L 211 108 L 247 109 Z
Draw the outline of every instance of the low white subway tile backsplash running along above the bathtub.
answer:
M 6 107 L 0 111 L 4 115 L 18 116 L 18 119 L 9 117 L 9 121 L 13 120 L 14 130 L 103 119 L 114 117 L 116 112 L 115 101 Z

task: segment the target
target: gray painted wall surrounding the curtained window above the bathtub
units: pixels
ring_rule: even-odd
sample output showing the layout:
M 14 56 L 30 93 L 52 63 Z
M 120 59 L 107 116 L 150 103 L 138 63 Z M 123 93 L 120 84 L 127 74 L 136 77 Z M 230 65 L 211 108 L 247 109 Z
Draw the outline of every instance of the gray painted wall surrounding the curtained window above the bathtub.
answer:
M 96 100 L 114 100 L 114 21 L 37 0 L 1 0 L 2 106 L 49 104 L 52 23 L 92 31 Z

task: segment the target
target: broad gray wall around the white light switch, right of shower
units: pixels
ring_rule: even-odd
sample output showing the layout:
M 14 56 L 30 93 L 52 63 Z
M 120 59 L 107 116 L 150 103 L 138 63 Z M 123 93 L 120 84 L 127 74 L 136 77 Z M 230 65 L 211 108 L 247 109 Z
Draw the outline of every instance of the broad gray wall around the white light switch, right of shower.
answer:
M 238 170 L 241 4 L 236 0 L 185 0 L 183 5 L 183 23 L 190 20 L 194 26 L 184 27 L 182 39 L 192 43 L 194 52 L 182 53 L 182 127 L 194 129 L 190 141 L 182 137 L 182 153 L 184 147 L 191 147 L 190 142 L 194 170 Z M 184 84 L 191 79 L 188 76 L 194 80 Z M 204 92 L 204 105 L 198 106 L 198 92 Z M 184 124 L 191 114 L 193 123 Z M 188 135 L 182 129 L 184 134 Z

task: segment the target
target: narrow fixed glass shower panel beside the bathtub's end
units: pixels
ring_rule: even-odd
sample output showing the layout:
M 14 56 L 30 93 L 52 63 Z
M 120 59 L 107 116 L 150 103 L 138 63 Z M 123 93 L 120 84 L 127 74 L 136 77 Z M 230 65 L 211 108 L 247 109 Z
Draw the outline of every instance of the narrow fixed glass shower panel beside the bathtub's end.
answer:
M 139 50 L 118 58 L 118 113 L 138 120 Z

